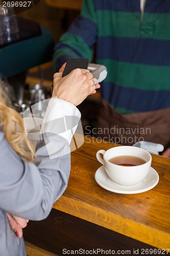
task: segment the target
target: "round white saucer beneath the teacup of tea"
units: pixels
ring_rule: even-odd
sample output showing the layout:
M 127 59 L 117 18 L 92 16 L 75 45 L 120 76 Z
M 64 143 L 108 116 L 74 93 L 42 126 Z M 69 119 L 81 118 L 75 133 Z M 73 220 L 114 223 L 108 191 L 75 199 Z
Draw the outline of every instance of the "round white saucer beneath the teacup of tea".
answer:
M 123 186 L 115 183 L 107 175 L 105 167 L 102 165 L 96 170 L 94 175 L 95 181 L 103 188 L 118 194 L 138 194 L 148 191 L 155 187 L 159 181 L 159 175 L 155 169 L 151 167 L 147 177 L 141 182 L 133 186 Z

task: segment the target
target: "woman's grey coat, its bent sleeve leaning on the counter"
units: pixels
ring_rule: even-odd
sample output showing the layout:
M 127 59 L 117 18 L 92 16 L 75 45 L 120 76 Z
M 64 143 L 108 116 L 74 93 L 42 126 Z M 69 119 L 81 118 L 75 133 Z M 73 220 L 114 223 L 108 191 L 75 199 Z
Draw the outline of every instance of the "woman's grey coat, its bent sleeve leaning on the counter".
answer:
M 51 137 L 52 138 L 52 137 Z M 61 157 L 50 159 L 46 145 L 37 144 L 40 163 L 28 163 L 11 148 L 0 130 L 0 255 L 27 255 L 23 238 L 9 226 L 6 212 L 29 220 L 45 219 L 53 203 L 66 189 L 70 172 L 70 148 L 66 139 L 55 135 L 53 143 Z M 47 143 L 47 138 L 45 139 Z M 50 139 L 48 143 L 51 143 Z

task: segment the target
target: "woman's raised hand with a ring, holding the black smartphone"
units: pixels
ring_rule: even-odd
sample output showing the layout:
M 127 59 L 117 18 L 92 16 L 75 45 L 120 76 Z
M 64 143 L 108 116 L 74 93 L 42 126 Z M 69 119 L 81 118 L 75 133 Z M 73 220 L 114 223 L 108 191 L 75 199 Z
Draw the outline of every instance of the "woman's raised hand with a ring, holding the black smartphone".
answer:
M 52 97 L 58 97 L 76 106 L 89 94 L 96 93 L 95 89 L 100 88 L 96 78 L 86 69 L 72 70 L 65 77 L 62 77 L 62 73 L 55 73 L 53 84 Z

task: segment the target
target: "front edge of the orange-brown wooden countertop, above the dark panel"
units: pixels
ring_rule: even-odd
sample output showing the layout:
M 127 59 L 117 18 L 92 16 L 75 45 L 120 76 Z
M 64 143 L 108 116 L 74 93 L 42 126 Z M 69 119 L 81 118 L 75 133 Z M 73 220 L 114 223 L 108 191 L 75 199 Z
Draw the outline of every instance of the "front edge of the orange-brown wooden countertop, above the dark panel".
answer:
M 129 219 L 124 219 L 112 212 L 106 212 L 101 208 L 95 208 L 94 214 L 93 206 L 87 203 L 77 202 L 76 200 L 63 195 L 56 203 L 54 203 L 53 208 L 93 224 L 113 230 L 142 243 L 149 244 L 160 249 L 169 249 L 169 233 Z

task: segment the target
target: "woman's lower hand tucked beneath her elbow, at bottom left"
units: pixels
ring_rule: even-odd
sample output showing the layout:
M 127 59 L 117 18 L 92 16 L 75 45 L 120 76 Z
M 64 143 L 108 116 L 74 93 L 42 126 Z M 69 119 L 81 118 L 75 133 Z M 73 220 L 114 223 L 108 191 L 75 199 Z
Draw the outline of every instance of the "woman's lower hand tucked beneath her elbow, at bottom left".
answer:
M 16 233 L 16 236 L 18 238 L 21 238 L 23 234 L 22 228 L 25 228 L 27 226 L 27 223 L 29 222 L 29 220 L 22 219 L 8 213 L 7 213 L 7 217 L 12 230 Z

